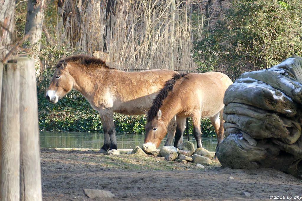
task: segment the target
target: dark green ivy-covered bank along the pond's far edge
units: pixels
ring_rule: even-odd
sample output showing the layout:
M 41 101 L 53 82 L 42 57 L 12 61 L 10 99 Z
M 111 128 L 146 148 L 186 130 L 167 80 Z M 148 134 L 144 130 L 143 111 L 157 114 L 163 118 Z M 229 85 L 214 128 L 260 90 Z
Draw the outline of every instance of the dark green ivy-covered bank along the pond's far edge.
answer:
M 40 130 L 102 132 L 102 123 L 97 111 L 76 91 L 72 91 L 56 104 L 44 97 L 48 85 L 38 85 L 38 110 Z M 146 116 L 125 116 L 115 113 L 114 123 L 117 133 L 143 134 Z M 189 123 L 190 120 L 189 120 Z M 201 121 L 203 136 L 216 136 L 209 119 Z M 192 134 L 192 125 L 189 127 Z

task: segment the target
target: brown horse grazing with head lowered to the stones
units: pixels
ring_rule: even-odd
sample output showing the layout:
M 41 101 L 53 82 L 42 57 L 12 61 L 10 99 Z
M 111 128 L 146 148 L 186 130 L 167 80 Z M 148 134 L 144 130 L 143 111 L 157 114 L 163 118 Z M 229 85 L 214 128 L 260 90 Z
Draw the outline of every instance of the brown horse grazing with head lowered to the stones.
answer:
M 219 144 L 223 139 L 223 96 L 232 83 L 228 76 L 219 72 L 174 74 L 160 90 L 148 111 L 145 143 L 158 147 L 166 135 L 169 121 L 176 115 L 175 147 L 182 138 L 187 117 L 192 118 L 198 148 L 202 148 L 201 118 L 210 118 Z

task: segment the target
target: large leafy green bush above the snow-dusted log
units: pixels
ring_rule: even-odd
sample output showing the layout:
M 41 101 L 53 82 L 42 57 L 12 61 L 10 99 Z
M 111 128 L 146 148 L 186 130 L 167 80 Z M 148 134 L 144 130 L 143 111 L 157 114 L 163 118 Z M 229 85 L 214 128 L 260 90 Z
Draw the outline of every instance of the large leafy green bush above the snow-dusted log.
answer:
M 302 54 L 300 0 L 231 1 L 228 13 L 194 46 L 201 68 L 223 65 L 229 71 L 259 70 Z M 210 56 L 209 56 L 210 55 Z

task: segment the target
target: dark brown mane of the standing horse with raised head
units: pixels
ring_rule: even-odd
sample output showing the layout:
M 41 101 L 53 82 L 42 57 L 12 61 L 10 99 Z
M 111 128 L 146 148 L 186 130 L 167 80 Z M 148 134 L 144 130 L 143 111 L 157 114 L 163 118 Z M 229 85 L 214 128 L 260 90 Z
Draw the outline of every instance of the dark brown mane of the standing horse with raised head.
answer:
M 57 62 L 56 68 L 59 68 L 62 65 L 63 61 L 66 61 L 67 63 L 72 62 L 75 64 L 85 64 L 85 65 L 97 66 L 101 68 L 114 69 L 107 66 L 104 60 L 88 55 L 74 55 L 74 56 L 63 58 Z

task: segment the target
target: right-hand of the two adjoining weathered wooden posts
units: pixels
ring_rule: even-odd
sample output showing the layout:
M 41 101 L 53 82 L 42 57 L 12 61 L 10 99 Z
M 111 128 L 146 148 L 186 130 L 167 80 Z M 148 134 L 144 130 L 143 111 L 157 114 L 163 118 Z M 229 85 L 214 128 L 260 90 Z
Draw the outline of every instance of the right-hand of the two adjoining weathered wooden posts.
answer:
M 42 200 L 36 69 L 34 60 L 17 58 L 20 68 L 20 200 Z

